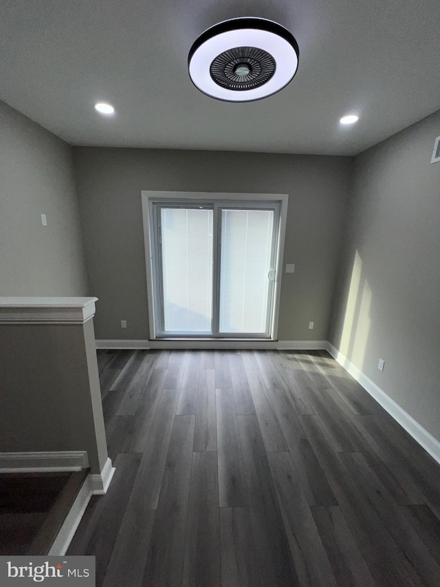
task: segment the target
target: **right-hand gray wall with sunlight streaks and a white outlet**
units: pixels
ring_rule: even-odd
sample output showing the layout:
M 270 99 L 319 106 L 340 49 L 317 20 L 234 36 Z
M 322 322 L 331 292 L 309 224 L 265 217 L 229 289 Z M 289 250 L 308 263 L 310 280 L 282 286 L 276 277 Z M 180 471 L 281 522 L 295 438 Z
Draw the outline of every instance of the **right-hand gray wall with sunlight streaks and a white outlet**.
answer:
M 440 440 L 439 135 L 440 111 L 355 158 L 329 340 Z

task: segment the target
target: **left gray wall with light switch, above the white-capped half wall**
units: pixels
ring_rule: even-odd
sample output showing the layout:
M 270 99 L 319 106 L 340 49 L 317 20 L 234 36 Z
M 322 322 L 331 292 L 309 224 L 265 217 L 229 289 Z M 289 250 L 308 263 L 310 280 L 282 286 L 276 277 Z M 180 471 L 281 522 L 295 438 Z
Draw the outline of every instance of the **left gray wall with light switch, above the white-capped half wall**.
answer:
M 87 295 L 72 148 L 3 102 L 0 129 L 0 295 Z

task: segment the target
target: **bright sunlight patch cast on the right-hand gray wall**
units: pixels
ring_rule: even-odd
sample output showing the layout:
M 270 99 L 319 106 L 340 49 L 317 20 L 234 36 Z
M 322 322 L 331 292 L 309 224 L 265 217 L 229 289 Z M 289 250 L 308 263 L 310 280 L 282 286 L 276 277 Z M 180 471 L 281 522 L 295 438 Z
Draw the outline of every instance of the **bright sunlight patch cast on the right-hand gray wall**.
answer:
M 361 371 L 364 367 L 371 325 L 371 295 L 369 282 L 366 280 L 364 270 L 362 270 L 362 259 L 356 250 L 351 269 L 339 350 Z

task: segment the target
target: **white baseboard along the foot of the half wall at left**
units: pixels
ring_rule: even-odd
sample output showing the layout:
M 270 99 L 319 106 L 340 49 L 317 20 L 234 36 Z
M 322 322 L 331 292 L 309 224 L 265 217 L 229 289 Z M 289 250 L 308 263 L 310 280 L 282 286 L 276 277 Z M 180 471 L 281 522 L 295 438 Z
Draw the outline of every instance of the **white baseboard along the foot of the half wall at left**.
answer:
M 87 451 L 0 453 L 0 473 L 51 473 L 87 467 Z

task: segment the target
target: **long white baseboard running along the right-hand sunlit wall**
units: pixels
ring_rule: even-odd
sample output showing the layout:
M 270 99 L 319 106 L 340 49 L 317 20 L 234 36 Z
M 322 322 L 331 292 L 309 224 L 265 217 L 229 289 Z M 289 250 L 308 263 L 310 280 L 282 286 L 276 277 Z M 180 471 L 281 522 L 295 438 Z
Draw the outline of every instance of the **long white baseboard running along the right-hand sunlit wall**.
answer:
M 353 365 L 347 356 L 344 356 L 331 343 L 327 343 L 327 350 L 331 356 L 355 378 L 364 389 L 375 400 L 382 405 L 384 409 L 393 416 L 393 418 L 404 428 L 408 434 L 416 440 L 427 453 L 440 464 L 440 442 L 432 436 L 426 429 L 424 429 L 412 416 L 410 416 L 404 409 L 402 409 L 391 397 L 389 397 L 380 387 L 378 387 L 369 377 L 367 377 L 358 367 Z

